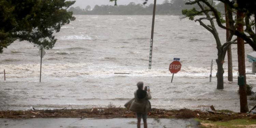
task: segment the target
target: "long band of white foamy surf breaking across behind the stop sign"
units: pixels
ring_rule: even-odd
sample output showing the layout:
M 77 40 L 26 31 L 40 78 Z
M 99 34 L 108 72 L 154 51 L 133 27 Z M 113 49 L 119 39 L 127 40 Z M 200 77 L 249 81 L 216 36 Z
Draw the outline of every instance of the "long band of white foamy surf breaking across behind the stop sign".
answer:
M 9 78 L 22 78 L 22 77 L 38 77 L 40 72 L 40 64 L 27 64 L 27 65 L 1 65 L 0 70 L 5 69 L 6 74 Z M 83 68 L 84 67 L 84 68 Z M 99 68 L 101 67 L 101 68 Z M 183 68 L 175 74 L 175 77 L 187 77 L 187 78 L 208 78 L 210 72 L 208 69 L 189 67 Z M 99 77 L 108 78 L 115 76 L 123 77 L 170 77 L 172 73 L 168 69 L 145 69 L 145 70 L 132 70 L 124 69 L 123 67 L 104 67 L 99 65 L 93 65 L 92 63 L 65 63 L 65 64 L 43 64 L 42 73 L 44 75 L 55 76 L 55 77 Z M 117 74 L 115 74 L 117 73 Z M 121 73 L 121 74 L 118 74 Z M 128 73 L 128 74 L 122 74 Z M 3 76 L 0 76 L 2 78 Z M 212 77 L 216 77 L 216 71 L 212 72 Z M 227 74 L 224 73 L 224 77 Z M 236 75 L 233 75 L 237 78 Z M 247 75 L 248 79 L 255 79 L 256 75 Z

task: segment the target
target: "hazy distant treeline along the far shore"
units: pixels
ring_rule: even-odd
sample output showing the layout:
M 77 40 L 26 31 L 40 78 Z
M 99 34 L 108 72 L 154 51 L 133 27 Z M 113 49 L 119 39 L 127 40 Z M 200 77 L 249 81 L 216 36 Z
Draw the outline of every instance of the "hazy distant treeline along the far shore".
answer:
M 199 8 L 195 5 L 186 5 L 186 0 L 171 0 L 164 1 L 162 4 L 156 5 L 156 15 L 182 15 L 183 9 Z M 114 4 L 114 3 L 113 3 Z M 222 14 L 224 12 L 224 5 L 221 3 L 213 3 L 216 9 Z M 95 5 L 92 9 L 90 5 L 85 9 L 79 6 L 71 7 L 68 11 L 75 15 L 152 15 L 154 4 L 144 6 L 143 4 L 135 4 L 134 2 L 128 5 Z

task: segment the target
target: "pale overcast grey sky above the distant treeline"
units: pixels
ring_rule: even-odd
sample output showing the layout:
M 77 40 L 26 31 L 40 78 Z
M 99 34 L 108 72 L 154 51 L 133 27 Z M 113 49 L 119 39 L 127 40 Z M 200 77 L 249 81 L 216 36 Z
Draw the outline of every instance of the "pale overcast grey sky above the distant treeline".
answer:
M 69 0 L 72 1 L 72 0 Z M 75 0 L 75 4 L 72 5 L 72 7 L 79 6 L 81 9 L 85 9 L 87 5 L 90 5 L 91 8 L 94 8 L 94 6 L 97 5 L 114 5 L 114 2 L 109 2 L 109 0 Z M 156 4 L 162 4 L 162 2 L 165 0 L 156 0 Z M 170 0 L 168 0 L 170 1 Z M 127 5 L 130 2 L 134 2 L 136 4 L 142 4 L 144 0 L 117 0 L 117 5 Z M 154 3 L 154 0 L 148 0 L 148 4 Z

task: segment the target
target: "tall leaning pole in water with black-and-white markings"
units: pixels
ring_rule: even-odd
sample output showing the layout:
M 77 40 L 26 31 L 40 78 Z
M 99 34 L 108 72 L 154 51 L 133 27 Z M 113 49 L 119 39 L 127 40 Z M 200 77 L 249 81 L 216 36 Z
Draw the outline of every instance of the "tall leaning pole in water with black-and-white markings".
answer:
M 152 29 L 151 29 L 151 39 L 150 39 L 150 58 L 149 58 L 149 63 L 148 63 L 148 69 L 151 69 L 151 62 L 152 62 L 155 14 L 156 14 L 156 0 L 154 0 L 154 9 L 153 9 L 153 18 L 152 18 Z

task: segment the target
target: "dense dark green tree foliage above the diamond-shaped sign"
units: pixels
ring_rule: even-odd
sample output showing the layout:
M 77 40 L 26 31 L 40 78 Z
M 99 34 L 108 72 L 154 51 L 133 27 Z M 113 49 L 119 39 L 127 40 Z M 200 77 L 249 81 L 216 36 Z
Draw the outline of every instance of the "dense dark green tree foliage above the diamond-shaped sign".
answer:
M 52 48 L 53 32 L 75 20 L 65 0 L 0 0 L 0 53 L 16 39 L 37 47 Z

